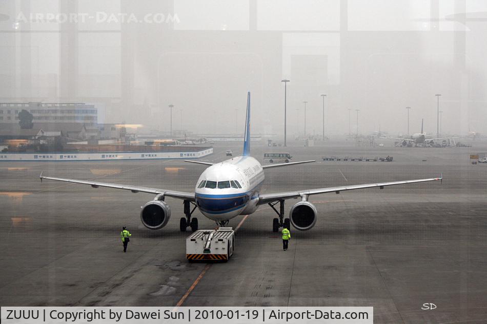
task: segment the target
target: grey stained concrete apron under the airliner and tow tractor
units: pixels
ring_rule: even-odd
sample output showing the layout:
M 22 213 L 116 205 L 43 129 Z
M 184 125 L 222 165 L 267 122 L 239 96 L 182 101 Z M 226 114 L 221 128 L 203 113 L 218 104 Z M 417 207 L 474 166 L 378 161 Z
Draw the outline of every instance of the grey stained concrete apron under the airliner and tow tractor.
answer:
M 288 251 L 272 232 L 267 205 L 237 231 L 225 264 L 189 264 L 172 217 L 146 229 L 140 206 L 152 195 L 38 179 L 73 179 L 193 191 L 205 166 L 180 160 L 0 163 L 0 305 L 14 306 L 373 306 L 374 323 L 481 323 L 487 318 L 487 164 L 470 164 L 465 148 L 302 147 L 252 143 L 252 155 L 290 152 L 313 164 L 266 170 L 263 192 L 438 177 L 430 183 L 312 196 L 310 231 L 291 229 Z M 321 145 L 318 143 L 318 145 Z M 215 144 L 203 161 L 240 152 Z M 385 157 L 393 162 L 322 161 L 322 156 Z M 286 212 L 297 200 L 286 203 Z M 199 211 L 199 227 L 215 223 Z M 239 216 L 231 221 L 236 227 Z M 128 253 L 119 239 L 132 232 Z M 189 296 L 181 297 L 198 275 Z M 437 309 L 421 310 L 424 303 Z

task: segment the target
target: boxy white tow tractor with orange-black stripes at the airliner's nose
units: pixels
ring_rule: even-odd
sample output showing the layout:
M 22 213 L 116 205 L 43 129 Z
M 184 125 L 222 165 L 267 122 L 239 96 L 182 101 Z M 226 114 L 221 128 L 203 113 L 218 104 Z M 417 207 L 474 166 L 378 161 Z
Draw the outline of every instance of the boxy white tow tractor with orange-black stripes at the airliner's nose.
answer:
M 235 231 L 231 227 L 200 229 L 186 239 L 186 260 L 227 262 L 233 255 L 234 247 Z

